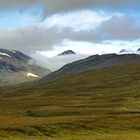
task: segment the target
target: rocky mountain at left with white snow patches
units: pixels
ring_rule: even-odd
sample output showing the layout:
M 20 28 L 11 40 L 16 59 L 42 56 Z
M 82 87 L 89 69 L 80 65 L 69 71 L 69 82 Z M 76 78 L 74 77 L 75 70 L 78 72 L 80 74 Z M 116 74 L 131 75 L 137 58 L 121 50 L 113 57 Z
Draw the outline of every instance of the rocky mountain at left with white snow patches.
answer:
M 37 66 L 22 52 L 0 49 L 0 85 L 33 80 L 48 73 L 50 70 Z

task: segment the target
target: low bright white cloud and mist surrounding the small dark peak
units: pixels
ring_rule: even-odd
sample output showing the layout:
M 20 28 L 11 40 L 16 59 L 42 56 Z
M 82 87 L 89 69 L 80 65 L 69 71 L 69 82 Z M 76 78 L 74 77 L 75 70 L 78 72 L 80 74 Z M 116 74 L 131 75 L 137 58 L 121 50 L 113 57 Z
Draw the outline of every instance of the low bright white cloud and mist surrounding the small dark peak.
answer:
M 36 63 L 40 66 L 57 70 L 67 63 L 86 58 L 94 54 L 106 54 L 106 53 L 119 53 L 120 50 L 126 49 L 131 52 L 136 52 L 140 47 L 140 40 L 132 42 L 127 41 L 105 41 L 101 43 L 88 43 L 88 42 L 73 42 L 66 41 L 63 47 L 56 47 L 53 51 L 37 51 L 31 56 L 36 60 Z M 57 56 L 67 49 L 74 50 L 76 55 Z M 80 54 L 82 53 L 82 54 Z

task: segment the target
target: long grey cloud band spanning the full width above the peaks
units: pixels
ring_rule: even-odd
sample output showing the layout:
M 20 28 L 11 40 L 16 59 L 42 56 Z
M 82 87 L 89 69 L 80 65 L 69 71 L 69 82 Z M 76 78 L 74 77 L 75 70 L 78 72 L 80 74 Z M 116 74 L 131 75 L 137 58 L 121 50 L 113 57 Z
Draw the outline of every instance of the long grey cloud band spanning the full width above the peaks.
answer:
M 69 20 L 72 21 L 72 19 Z M 78 27 L 80 23 L 77 21 L 73 21 L 70 26 L 66 23 L 64 27 L 62 24 L 56 24 L 52 27 L 36 25 L 17 29 L 0 29 L 0 46 L 31 53 L 36 50 L 52 50 L 57 46 L 63 47 L 65 40 L 94 44 L 103 44 L 107 40 L 134 41 L 140 36 L 139 22 L 133 16 L 115 15 L 108 20 L 103 20 L 97 28 L 87 28 L 87 30 L 83 30 L 82 26 Z M 90 22 L 83 24 L 91 26 Z

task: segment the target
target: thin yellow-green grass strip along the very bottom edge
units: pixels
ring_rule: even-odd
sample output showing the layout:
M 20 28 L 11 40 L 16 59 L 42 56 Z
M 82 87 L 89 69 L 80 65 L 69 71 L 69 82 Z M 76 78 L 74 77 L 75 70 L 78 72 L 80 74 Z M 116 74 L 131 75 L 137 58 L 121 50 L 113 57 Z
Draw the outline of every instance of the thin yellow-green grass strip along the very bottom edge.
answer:
M 3 138 L 1 140 L 139 140 L 138 133 L 121 133 L 121 134 L 88 134 L 88 135 L 67 135 L 63 137 L 22 137 L 22 138 Z

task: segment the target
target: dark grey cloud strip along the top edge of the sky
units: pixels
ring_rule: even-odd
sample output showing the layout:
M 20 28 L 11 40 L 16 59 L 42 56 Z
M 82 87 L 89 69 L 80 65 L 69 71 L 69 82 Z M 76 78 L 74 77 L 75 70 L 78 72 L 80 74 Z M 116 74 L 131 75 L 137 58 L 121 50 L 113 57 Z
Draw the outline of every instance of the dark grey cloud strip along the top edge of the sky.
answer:
M 0 8 L 43 5 L 49 13 L 83 8 L 139 7 L 139 0 L 0 0 Z

